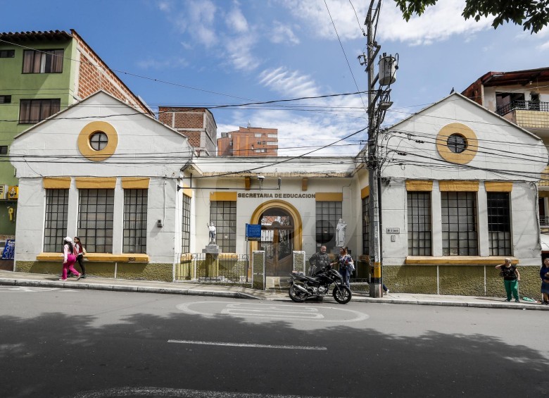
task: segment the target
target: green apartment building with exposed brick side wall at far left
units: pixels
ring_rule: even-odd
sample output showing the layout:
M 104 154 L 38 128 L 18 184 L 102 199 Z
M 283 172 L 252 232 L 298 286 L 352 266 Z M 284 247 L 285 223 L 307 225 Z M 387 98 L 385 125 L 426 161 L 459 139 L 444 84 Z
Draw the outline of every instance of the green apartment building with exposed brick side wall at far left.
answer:
M 99 89 L 152 115 L 75 30 L 0 32 L 0 240 L 15 235 L 13 138 Z

